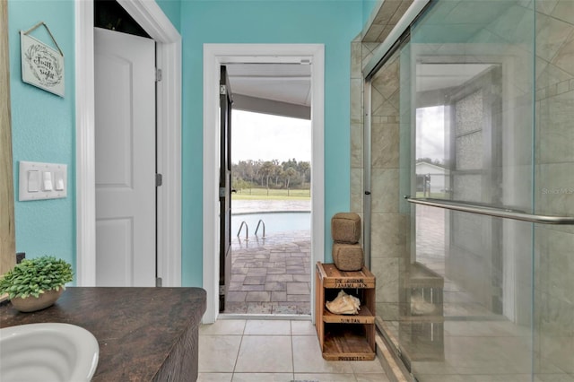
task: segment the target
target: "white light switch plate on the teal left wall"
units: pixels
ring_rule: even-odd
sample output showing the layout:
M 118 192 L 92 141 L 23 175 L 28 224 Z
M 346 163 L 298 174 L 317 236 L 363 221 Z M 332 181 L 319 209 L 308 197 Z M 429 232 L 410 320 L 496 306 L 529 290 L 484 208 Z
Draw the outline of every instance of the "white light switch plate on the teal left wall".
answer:
M 42 183 L 47 178 L 54 180 L 54 174 L 58 175 L 57 187 L 52 187 L 50 185 L 49 190 L 45 190 L 47 187 L 39 187 L 38 191 L 28 191 L 28 181 L 30 179 L 30 171 L 39 171 L 39 180 Z M 49 177 L 45 173 L 50 173 Z M 57 164 L 57 163 L 39 163 L 35 161 L 20 161 L 20 179 L 18 185 L 18 200 L 23 202 L 26 200 L 44 200 L 44 199 L 57 199 L 67 196 L 68 182 L 67 182 L 67 165 Z M 57 189 L 62 188 L 62 189 Z M 31 187 L 31 189 L 36 189 L 36 187 Z

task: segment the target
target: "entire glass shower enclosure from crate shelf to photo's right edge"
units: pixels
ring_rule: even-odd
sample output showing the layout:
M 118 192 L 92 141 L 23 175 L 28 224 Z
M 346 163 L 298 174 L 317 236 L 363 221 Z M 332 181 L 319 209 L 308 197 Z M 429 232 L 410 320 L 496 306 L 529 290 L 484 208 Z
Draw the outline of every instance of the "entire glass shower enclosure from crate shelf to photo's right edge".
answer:
M 564 4 L 435 2 L 367 82 L 378 326 L 419 381 L 574 380 L 572 226 L 403 198 L 574 215 Z

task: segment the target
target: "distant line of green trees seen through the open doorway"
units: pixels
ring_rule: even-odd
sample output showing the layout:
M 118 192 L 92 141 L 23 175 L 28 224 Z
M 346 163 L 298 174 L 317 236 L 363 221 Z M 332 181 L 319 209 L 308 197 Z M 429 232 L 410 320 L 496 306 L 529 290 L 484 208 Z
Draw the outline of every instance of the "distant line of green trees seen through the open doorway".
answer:
M 311 165 L 295 158 L 273 161 L 239 161 L 231 163 L 231 187 L 243 188 L 309 188 Z

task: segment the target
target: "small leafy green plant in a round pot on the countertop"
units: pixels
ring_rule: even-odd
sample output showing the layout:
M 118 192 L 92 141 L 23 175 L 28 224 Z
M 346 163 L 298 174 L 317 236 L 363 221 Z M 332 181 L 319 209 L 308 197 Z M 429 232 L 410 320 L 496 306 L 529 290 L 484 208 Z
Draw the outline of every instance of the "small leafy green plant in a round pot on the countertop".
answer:
M 22 312 L 48 308 L 73 280 L 72 265 L 54 256 L 24 259 L 0 279 L 0 294 L 8 293 Z

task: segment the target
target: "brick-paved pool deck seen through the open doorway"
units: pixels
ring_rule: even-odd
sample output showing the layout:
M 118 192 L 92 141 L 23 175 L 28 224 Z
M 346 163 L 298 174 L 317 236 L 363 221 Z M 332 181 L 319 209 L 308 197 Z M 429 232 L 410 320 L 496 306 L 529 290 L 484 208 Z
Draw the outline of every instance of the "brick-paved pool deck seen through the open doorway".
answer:
M 310 314 L 309 230 L 231 240 L 228 314 Z

